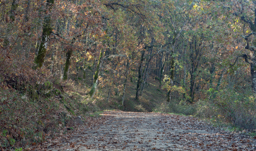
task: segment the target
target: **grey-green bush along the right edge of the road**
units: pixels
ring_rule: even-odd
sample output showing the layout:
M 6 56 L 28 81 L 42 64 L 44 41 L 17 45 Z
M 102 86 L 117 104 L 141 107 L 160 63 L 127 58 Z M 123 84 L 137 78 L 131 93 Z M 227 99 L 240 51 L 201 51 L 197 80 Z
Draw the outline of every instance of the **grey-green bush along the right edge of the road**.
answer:
M 233 126 L 256 129 L 255 96 L 233 90 L 208 91 L 209 98 L 197 103 L 197 116 L 229 122 Z

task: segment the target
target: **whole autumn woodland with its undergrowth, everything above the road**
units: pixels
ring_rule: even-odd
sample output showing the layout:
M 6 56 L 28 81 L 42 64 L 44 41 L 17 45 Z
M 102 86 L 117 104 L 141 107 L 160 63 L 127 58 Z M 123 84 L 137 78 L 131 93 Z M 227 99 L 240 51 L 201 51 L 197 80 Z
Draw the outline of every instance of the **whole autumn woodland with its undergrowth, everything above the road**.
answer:
M 255 130 L 255 20 L 245 0 L 0 0 L 0 148 L 104 109 Z

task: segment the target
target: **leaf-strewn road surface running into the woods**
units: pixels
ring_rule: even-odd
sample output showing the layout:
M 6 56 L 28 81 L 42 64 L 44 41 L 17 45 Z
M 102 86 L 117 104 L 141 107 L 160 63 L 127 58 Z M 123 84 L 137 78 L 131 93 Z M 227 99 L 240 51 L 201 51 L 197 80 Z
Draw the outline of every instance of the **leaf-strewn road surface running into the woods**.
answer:
M 195 117 L 105 111 L 33 150 L 256 150 L 256 137 Z

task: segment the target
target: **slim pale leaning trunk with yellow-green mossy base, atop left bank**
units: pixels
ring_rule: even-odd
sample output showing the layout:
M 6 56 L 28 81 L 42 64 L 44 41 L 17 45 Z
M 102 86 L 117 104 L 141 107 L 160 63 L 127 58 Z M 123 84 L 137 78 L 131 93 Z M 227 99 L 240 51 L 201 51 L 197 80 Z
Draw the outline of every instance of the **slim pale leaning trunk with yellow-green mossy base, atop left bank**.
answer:
M 99 56 L 99 62 L 98 62 L 98 65 L 97 65 L 97 69 L 96 69 L 96 72 L 94 74 L 94 78 L 93 78 L 93 85 L 92 85 L 92 89 L 89 93 L 89 95 L 91 96 L 91 98 L 94 97 L 94 94 L 97 90 L 97 85 L 98 85 L 98 78 L 99 78 L 99 73 L 100 73 L 100 65 L 101 65 L 101 61 L 102 61 L 102 57 L 104 55 L 104 50 L 101 49 L 101 52 L 100 52 L 100 56 Z

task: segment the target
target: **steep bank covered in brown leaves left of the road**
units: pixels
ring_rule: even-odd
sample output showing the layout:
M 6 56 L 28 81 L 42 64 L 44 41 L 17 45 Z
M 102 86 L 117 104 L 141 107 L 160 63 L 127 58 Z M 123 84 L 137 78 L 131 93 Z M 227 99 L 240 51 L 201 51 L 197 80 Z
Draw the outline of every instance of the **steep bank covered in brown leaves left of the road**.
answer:
M 68 84 L 28 79 L 29 83 L 19 78 L 13 82 L 18 91 L 10 88 L 13 83 L 0 85 L 0 150 L 29 150 L 76 127 L 95 110 L 90 103 L 81 103 L 83 97 Z

